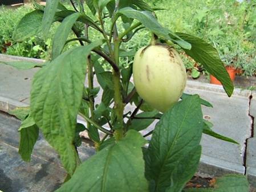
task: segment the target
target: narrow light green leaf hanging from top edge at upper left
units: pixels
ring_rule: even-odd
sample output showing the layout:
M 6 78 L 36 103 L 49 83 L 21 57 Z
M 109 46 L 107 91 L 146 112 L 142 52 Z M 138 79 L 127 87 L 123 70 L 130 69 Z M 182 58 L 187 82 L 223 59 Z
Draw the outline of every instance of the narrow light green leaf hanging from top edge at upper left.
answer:
M 59 0 L 47 0 L 42 20 L 42 32 L 46 39 L 51 24 L 54 21 L 54 15 L 58 8 Z

